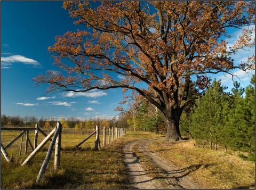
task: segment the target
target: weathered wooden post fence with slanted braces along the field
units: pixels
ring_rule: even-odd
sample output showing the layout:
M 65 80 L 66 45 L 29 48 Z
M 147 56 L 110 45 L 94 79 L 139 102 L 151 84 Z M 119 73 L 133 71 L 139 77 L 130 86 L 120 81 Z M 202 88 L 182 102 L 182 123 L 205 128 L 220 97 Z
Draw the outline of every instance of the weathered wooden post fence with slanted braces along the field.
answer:
M 26 163 L 28 163 L 28 161 L 31 160 L 32 158 L 34 158 L 34 156 L 38 153 L 38 151 L 40 151 L 47 142 L 51 141 L 49 149 L 48 149 L 47 154 L 45 156 L 45 160 L 44 160 L 44 162 L 41 166 L 41 169 L 40 169 L 40 171 L 38 173 L 38 176 L 37 176 L 37 179 L 36 179 L 37 184 L 39 184 L 42 176 L 45 173 L 47 164 L 49 163 L 49 160 L 51 158 L 51 154 L 52 154 L 54 145 L 55 145 L 54 170 L 60 169 L 60 151 L 63 150 L 61 148 L 62 125 L 61 125 L 60 122 L 57 121 L 57 126 L 55 128 L 53 128 L 53 130 L 51 131 L 51 133 L 49 133 L 49 135 L 47 135 L 37 125 L 35 126 L 35 128 L 1 128 L 1 130 L 22 130 L 22 132 L 17 137 L 15 137 L 13 139 L 13 141 L 11 141 L 5 147 L 1 143 L 1 152 L 3 153 L 4 158 L 6 159 L 7 162 L 11 162 L 11 159 L 10 159 L 9 155 L 6 152 L 7 148 L 9 148 L 15 141 L 17 141 L 21 137 L 21 145 L 20 145 L 20 152 L 19 152 L 19 155 L 21 155 L 23 135 L 26 134 L 25 155 L 27 153 L 28 144 L 30 145 L 33 152 L 31 152 L 29 154 L 29 156 L 27 157 L 27 159 L 25 161 L 23 161 L 21 166 L 24 166 Z M 32 145 L 32 143 L 29 139 L 29 131 L 30 130 L 35 130 L 34 146 Z M 113 128 L 108 128 L 108 143 L 111 142 L 110 141 L 110 131 L 111 131 L 111 140 L 112 140 L 112 142 L 115 139 L 117 139 L 118 137 L 121 137 L 126 133 L 125 128 L 114 128 L 114 129 Z M 39 145 L 37 145 L 38 132 L 42 133 L 45 136 L 44 140 Z M 87 139 L 92 137 L 92 135 L 94 135 L 94 134 L 96 134 L 95 135 L 94 150 L 97 151 L 100 147 L 100 130 L 99 130 L 98 126 L 96 126 L 96 129 L 89 136 L 87 136 L 85 139 L 83 139 L 83 141 L 81 141 L 76 146 L 74 146 L 73 149 L 77 149 L 79 146 L 81 146 L 85 141 L 87 141 Z M 106 146 L 106 128 L 105 127 L 103 127 L 103 146 Z

